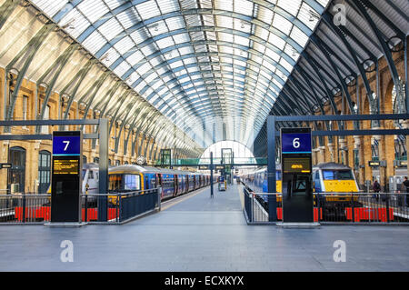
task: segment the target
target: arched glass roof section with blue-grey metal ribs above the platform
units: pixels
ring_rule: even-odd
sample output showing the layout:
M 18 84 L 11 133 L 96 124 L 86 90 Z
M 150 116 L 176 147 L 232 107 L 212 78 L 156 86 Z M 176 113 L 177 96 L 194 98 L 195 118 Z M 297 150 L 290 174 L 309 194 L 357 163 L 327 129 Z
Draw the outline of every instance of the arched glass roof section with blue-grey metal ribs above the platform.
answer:
M 205 146 L 253 142 L 328 2 L 32 0 Z

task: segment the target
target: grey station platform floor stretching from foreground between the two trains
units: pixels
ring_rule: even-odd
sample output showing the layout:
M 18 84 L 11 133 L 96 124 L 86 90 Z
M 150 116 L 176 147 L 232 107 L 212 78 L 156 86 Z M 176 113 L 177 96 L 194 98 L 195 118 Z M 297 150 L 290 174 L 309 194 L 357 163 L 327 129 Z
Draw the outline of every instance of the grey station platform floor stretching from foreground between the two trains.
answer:
M 125 225 L 0 228 L 0 271 L 408 271 L 409 227 L 323 225 L 287 229 L 246 225 L 240 185 L 214 186 L 163 203 Z M 62 241 L 73 262 L 62 262 Z M 334 262 L 334 241 L 346 262 Z

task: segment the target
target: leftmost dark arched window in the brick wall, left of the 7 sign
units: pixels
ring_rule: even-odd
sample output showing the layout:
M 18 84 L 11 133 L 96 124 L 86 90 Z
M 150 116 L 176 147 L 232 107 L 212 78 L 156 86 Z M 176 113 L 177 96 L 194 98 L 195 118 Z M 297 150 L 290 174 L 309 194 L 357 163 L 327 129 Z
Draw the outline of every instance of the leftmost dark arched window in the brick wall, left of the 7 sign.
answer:
M 8 188 L 22 193 L 25 191 L 25 148 L 11 147 L 8 158 L 12 164 L 8 171 Z

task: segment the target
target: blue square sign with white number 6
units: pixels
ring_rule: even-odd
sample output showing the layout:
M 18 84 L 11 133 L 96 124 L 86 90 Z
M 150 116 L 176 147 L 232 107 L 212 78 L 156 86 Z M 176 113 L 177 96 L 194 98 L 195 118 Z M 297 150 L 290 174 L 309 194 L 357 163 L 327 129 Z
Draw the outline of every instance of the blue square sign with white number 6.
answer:
M 285 133 L 281 138 L 283 154 L 311 153 L 310 133 Z

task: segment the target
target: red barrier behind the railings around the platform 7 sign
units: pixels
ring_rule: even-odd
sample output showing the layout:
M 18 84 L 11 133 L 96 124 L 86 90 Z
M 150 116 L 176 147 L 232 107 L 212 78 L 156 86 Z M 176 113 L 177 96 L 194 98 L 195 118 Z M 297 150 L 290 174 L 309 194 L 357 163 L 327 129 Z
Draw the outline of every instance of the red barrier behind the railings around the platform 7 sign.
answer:
M 50 206 L 25 207 L 25 219 L 42 218 L 45 221 L 50 220 Z M 87 222 L 98 220 L 98 210 L 96 208 L 88 208 Z M 83 222 L 85 221 L 85 208 L 82 211 Z M 116 208 L 108 208 L 108 220 L 116 218 Z M 19 222 L 23 221 L 23 206 L 15 207 L 15 219 Z

